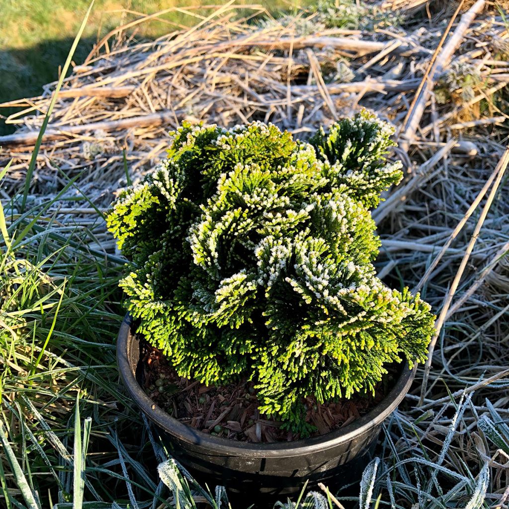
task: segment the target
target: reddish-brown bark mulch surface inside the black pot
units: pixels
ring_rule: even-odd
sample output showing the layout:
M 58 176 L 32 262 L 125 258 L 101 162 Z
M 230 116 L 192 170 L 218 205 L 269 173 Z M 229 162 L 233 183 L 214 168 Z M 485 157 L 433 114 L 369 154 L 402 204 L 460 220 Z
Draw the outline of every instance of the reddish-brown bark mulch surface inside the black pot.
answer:
M 179 377 L 162 353 L 142 339 L 142 387 L 157 406 L 182 423 L 203 433 L 245 442 L 287 442 L 299 434 L 281 427 L 274 418 L 261 415 L 256 390 L 246 379 L 220 387 Z M 375 395 L 354 394 L 350 399 L 320 404 L 307 397 L 306 422 L 323 435 L 342 428 L 369 412 L 388 393 L 397 376 L 398 366 L 376 386 Z

